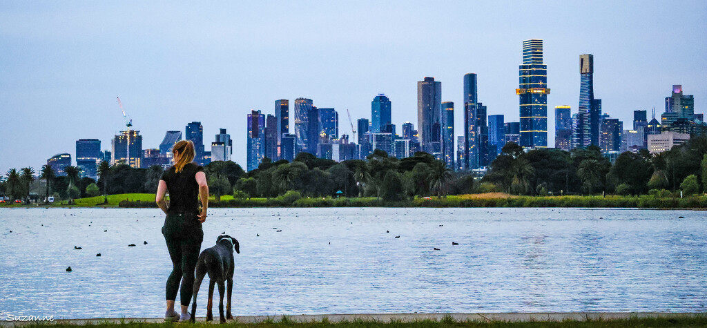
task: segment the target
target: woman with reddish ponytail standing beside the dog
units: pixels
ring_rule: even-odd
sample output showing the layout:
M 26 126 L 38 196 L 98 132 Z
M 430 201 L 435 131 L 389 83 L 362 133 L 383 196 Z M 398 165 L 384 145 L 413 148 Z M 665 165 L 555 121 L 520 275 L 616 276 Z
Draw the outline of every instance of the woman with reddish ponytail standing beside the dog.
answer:
M 189 321 L 187 309 L 192 299 L 194 285 L 194 267 L 199 259 L 204 230 L 201 223 L 206 221 L 206 208 L 209 205 L 209 186 L 206 185 L 204 168 L 192 163 L 194 144 L 192 141 L 179 141 L 172 149 L 175 165 L 166 170 L 157 187 L 157 205 L 167 217 L 162 227 L 162 234 L 167 242 L 173 269 L 165 287 L 167 312 L 165 320 Z M 170 204 L 165 201 L 165 193 L 170 193 Z M 201 199 L 201 210 L 199 210 Z M 182 315 L 174 309 L 177 290 L 182 281 Z

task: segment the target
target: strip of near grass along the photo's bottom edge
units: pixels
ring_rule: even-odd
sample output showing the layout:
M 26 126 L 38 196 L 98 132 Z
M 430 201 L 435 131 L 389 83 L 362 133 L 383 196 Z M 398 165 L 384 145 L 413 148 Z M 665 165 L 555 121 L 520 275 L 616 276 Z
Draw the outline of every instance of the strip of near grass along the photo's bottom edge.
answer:
M 218 320 L 218 318 L 215 318 Z M 52 324 L 23 324 L 23 327 L 213 327 L 213 323 L 197 322 L 195 324 L 179 323 L 147 323 L 147 322 L 103 322 L 98 324 L 87 324 L 79 326 L 77 324 L 67 324 L 55 322 Z M 443 317 L 442 320 L 342 320 L 332 322 L 325 317 L 321 321 L 298 322 L 288 317 L 281 317 L 281 320 L 262 320 L 255 323 L 229 322 L 228 327 L 242 328 L 475 328 L 475 327 L 497 327 L 497 328 L 535 328 L 535 327 L 578 327 L 578 328 L 609 328 L 609 327 L 707 327 L 707 316 L 658 316 L 658 317 L 629 317 L 622 319 L 587 319 L 587 320 L 561 320 L 561 321 L 503 321 L 503 320 L 464 320 L 457 321 L 452 317 Z

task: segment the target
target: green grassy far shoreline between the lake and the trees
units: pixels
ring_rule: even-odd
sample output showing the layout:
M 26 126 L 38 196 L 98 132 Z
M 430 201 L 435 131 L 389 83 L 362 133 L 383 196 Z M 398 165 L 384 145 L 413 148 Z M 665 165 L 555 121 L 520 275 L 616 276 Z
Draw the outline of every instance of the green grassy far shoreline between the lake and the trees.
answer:
M 2 208 L 156 208 L 154 194 L 115 194 L 104 198 L 90 197 L 76 199 L 73 205 L 66 201 L 55 204 L 11 204 Z M 209 200 L 211 208 L 250 208 L 250 207 L 575 207 L 575 208 L 617 208 L 617 209 L 707 209 L 706 196 L 685 198 L 656 197 L 643 195 L 630 196 L 512 196 L 502 193 L 450 195 L 431 199 L 416 198 L 406 201 L 384 201 L 375 197 L 340 197 L 340 198 L 246 198 L 234 199 L 221 197 Z

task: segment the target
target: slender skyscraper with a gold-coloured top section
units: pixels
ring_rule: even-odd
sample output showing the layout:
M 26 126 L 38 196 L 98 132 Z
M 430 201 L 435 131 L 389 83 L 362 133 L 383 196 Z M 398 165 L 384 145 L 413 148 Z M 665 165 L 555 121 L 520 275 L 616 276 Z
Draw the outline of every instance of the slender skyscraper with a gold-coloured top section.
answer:
M 602 100 L 594 98 L 594 56 L 582 54 L 579 57 L 580 90 L 578 115 L 578 147 L 599 146 L 600 117 Z

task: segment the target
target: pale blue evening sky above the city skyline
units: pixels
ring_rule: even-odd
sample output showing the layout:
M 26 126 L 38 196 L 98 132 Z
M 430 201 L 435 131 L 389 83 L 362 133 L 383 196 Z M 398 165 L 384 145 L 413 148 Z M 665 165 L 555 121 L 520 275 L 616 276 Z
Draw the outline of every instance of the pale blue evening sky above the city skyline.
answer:
M 370 119 L 385 93 L 392 120 L 417 126 L 417 81 L 442 82 L 462 133 L 462 76 L 478 74 L 488 115 L 518 122 L 522 40 L 544 40 L 548 139 L 554 107 L 577 112 L 580 54 L 594 55 L 602 112 L 631 128 L 660 116 L 673 84 L 707 107 L 707 1 L 0 1 L 0 172 L 71 153 L 125 127 L 143 148 L 200 121 L 245 168 L 246 115 L 311 98 Z M 659 117 L 660 118 L 660 117 Z M 290 129 L 293 131 L 293 114 Z

